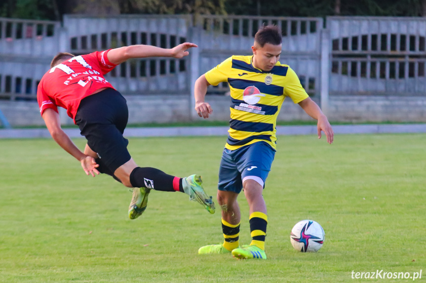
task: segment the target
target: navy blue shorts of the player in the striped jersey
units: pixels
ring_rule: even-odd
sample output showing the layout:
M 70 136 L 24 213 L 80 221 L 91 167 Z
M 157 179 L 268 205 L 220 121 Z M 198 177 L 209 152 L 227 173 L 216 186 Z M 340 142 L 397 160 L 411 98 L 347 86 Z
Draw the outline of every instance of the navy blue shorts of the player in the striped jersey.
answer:
M 253 179 L 265 188 L 274 157 L 275 150 L 266 142 L 255 142 L 236 150 L 224 149 L 218 189 L 240 193 L 244 179 Z

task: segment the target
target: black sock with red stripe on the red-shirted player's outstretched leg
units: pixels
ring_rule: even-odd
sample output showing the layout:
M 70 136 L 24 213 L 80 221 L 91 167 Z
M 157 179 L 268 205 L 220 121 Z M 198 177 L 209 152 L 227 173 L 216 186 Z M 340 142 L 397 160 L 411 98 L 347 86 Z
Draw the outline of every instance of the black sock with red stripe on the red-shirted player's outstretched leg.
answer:
M 130 173 L 130 184 L 134 188 L 150 188 L 161 191 L 181 191 L 182 178 L 168 175 L 152 167 L 136 167 Z

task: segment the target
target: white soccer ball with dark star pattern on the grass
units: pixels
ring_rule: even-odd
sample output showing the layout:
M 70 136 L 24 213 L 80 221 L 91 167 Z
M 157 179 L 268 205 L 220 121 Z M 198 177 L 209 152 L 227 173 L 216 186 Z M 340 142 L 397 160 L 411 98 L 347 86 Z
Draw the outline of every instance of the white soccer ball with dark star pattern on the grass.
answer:
M 290 241 L 297 251 L 317 252 L 324 243 L 324 229 L 318 222 L 302 220 L 291 229 Z

